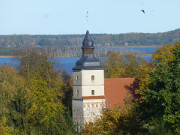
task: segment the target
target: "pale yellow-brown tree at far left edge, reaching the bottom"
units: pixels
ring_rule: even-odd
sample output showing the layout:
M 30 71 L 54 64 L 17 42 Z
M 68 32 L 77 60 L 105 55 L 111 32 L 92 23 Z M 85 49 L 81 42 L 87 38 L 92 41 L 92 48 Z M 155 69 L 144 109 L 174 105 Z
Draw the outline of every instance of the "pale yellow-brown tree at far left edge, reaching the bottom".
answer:
M 24 89 L 25 83 L 15 67 L 0 67 L 0 134 L 11 134 L 15 131 L 10 121 L 9 104 L 14 101 L 18 89 Z

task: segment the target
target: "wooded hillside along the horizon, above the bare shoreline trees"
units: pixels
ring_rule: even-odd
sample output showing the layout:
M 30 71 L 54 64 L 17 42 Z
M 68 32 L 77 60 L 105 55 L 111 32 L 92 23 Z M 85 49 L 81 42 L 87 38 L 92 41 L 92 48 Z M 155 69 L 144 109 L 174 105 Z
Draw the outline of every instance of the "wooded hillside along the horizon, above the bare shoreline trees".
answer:
M 152 46 L 180 40 L 180 29 L 163 33 L 91 34 L 96 46 Z M 84 35 L 0 35 L 0 47 L 81 45 Z

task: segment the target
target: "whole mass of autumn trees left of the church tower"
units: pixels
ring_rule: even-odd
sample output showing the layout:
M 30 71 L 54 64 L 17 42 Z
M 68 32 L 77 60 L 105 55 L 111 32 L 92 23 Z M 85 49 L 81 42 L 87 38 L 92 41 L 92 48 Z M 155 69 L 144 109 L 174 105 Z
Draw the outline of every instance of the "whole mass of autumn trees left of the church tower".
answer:
M 70 75 L 35 53 L 20 63 L 0 67 L 0 134 L 73 134 Z

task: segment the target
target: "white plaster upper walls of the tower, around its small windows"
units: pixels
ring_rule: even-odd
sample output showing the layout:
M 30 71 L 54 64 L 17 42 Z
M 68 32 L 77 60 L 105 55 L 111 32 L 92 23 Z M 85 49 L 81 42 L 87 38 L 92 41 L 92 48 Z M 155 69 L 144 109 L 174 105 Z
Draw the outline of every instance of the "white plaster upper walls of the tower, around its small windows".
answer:
M 91 80 L 91 76 L 94 80 Z M 77 79 L 78 76 L 78 79 Z M 79 95 L 77 95 L 79 90 Z M 92 95 L 91 91 L 95 91 Z M 81 99 L 82 96 L 103 96 L 104 95 L 104 70 L 81 70 L 73 72 L 73 98 Z

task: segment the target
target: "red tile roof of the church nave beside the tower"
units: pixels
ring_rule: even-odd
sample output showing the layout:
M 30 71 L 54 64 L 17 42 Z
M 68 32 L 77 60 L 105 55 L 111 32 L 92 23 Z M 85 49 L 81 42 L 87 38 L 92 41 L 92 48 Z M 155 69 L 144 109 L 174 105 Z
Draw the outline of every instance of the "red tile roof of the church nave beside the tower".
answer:
M 114 108 L 131 97 L 138 99 L 135 91 L 139 88 L 139 81 L 135 78 L 108 78 L 104 79 L 105 97 L 108 107 Z

